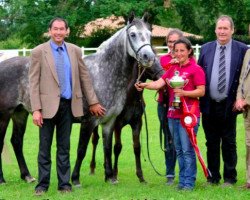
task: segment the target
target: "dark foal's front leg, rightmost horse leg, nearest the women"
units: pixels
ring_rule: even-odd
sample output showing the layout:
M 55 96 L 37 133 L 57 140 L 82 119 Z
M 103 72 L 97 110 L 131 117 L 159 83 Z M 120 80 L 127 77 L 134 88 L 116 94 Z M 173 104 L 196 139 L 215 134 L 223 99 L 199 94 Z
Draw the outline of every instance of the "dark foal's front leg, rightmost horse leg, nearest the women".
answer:
M 139 178 L 140 182 L 146 182 L 143 177 L 143 172 L 141 168 L 141 143 L 140 143 L 140 132 L 142 127 L 142 120 L 135 123 L 135 126 L 131 126 L 133 130 L 133 147 L 135 154 L 135 163 L 136 163 L 136 175 Z

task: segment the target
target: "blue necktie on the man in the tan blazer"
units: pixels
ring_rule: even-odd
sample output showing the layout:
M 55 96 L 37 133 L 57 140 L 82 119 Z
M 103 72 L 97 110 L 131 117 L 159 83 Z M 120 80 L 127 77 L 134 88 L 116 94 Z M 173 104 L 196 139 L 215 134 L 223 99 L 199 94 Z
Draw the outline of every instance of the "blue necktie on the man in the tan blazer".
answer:
M 64 66 L 64 57 L 63 57 L 63 48 L 57 48 L 58 54 L 56 56 L 56 71 L 59 79 L 60 91 L 61 94 L 66 89 L 66 80 L 65 80 L 65 66 Z

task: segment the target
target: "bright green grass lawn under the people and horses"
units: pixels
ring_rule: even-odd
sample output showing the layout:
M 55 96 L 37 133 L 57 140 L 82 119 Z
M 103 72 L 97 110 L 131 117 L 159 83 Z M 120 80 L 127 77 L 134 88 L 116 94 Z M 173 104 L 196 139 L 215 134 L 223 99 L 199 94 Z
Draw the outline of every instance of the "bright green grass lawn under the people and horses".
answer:
M 146 113 L 149 126 L 149 144 L 151 159 L 161 173 L 165 172 L 164 154 L 159 144 L 159 122 L 156 113 L 155 92 L 145 91 Z M 71 166 L 73 169 L 76 149 L 79 137 L 79 125 L 73 126 L 71 135 Z M 89 145 L 87 156 L 83 161 L 81 168 L 82 188 L 73 188 L 70 194 L 60 194 L 57 192 L 57 177 L 55 163 L 55 139 L 52 149 L 52 173 L 51 186 L 49 191 L 42 197 L 34 196 L 34 187 L 36 183 L 27 184 L 20 179 L 19 168 L 10 144 L 11 126 L 8 129 L 5 143 L 7 152 L 3 153 L 3 172 L 7 181 L 6 184 L 0 185 L 0 199 L 249 199 L 250 192 L 240 189 L 245 179 L 245 132 L 243 127 L 242 116 L 238 117 L 237 126 L 237 145 L 238 145 L 238 182 L 232 188 L 222 188 L 221 186 L 204 187 L 206 179 L 203 175 L 200 164 L 198 165 L 198 175 L 196 187 L 192 192 L 177 191 L 177 179 L 174 186 L 165 185 L 165 177 L 158 176 L 152 169 L 146 150 L 146 133 L 145 127 L 142 129 L 142 169 L 147 184 L 139 183 L 135 175 L 135 160 L 133 153 L 132 135 L 130 127 L 123 129 L 122 141 L 123 149 L 119 160 L 119 184 L 111 185 L 104 182 L 103 169 L 103 150 L 102 141 L 100 140 L 97 149 L 97 168 L 94 176 L 89 175 L 89 163 L 91 157 L 91 144 Z M 198 131 L 198 145 L 202 155 L 206 160 L 206 146 L 204 132 L 202 127 Z M 32 124 L 31 118 L 24 139 L 24 155 L 30 173 L 37 178 L 37 153 L 38 153 L 38 129 Z M 144 157 L 145 160 L 144 161 Z M 222 170 L 221 170 L 222 171 Z M 178 177 L 178 167 L 176 167 Z

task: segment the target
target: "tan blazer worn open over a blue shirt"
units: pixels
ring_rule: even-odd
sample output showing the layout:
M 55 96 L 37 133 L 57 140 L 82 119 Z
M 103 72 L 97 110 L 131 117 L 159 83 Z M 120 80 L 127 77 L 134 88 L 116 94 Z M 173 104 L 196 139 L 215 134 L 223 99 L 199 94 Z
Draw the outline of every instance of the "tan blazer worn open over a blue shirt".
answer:
M 98 99 L 83 62 L 81 49 L 71 43 L 65 44 L 72 72 L 72 114 L 80 117 L 83 115 L 83 94 L 89 105 L 98 103 Z M 32 112 L 41 110 L 43 118 L 54 117 L 59 108 L 60 88 L 50 41 L 31 52 L 29 86 Z

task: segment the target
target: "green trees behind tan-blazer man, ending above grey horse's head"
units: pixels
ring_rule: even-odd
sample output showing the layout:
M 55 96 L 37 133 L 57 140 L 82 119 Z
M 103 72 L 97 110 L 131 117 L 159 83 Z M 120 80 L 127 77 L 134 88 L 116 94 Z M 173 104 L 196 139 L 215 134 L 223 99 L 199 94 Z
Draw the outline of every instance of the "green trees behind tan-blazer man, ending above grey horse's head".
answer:
M 70 25 L 68 41 L 80 44 L 83 26 L 87 22 L 99 17 L 127 16 L 131 10 L 136 9 L 137 15 L 142 15 L 145 10 L 157 15 L 157 7 L 163 7 L 161 0 L 137 1 L 131 0 L 8 0 L 4 9 L 8 11 L 5 21 L 10 24 L 13 32 L 18 32 L 19 37 L 33 47 L 45 40 L 49 21 L 56 16 L 65 18 Z M 55 12 L 56 11 L 56 12 Z M 70 11 L 70 12 L 69 12 Z M 18 30 L 18 31 L 17 31 Z

